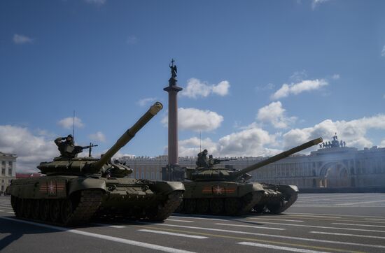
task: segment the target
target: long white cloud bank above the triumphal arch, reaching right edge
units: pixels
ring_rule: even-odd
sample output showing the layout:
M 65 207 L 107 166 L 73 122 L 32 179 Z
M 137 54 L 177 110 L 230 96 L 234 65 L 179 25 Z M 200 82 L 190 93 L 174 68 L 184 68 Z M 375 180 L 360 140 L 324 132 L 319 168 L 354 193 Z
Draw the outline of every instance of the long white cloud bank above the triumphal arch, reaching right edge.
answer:
M 293 147 L 318 137 L 329 141 L 334 133 L 337 133 L 339 140 L 346 141 L 346 146 L 362 149 L 373 145 L 372 141 L 366 136 L 369 129 L 385 130 L 385 115 L 380 114 L 351 121 L 337 120 L 333 122 L 332 120 L 324 120 L 314 127 L 292 129 L 283 134 L 283 146 Z

